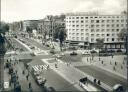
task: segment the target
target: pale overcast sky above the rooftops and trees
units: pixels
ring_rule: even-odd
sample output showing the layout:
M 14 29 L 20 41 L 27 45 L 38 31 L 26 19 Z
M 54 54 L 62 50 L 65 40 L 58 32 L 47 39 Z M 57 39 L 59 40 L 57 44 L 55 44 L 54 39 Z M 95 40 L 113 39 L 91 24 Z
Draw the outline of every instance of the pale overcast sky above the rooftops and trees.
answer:
M 98 11 L 119 14 L 127 0 L 1 0 L 1 18 L 6 22 L 43 19 L 46 15 Z

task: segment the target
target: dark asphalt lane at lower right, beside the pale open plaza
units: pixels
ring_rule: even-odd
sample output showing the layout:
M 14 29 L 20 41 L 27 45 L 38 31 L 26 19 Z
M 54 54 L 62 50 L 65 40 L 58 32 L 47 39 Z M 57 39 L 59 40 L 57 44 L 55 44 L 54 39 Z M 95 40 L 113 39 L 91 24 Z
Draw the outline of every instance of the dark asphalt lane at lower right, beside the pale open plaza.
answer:
M 110 85 L 111 87 L 115 84 L 122 84 L 125 88 L 127 87 L 127 80 L 105 70 L 101 70 L 95 66 L 79 66 L 76 68 L 97 79 L 100 79 L 102 82 Z

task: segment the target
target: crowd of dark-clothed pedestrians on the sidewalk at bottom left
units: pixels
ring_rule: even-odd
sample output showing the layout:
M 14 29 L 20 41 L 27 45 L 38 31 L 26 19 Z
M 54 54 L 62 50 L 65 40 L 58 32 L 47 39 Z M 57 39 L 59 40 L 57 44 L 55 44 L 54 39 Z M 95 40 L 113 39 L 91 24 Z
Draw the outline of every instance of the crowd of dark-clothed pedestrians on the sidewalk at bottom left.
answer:
M 20 89 L 21 89 L 21 85 L 20 85 L 20 81 L 19 81 L 19 77 L 20 76 L 18 75 L 19 72 L 18 72 L 18 70 L 16 68 L 18 64 L 20 64 L 19 63 L 19 60 L 7 59 L 7 61 L 5 63 L 5 66 L 4 66 L 4 68 L 5 69 L 8 69 L 8 71 L 10 69 L 12 69 L 12 72 L 9 73 L 10 74 L 9 86 L 11 87 L 12 84 L 14 84 L 15 89 L 16 89 L 16 86 L 17 85 L 19 85 L 20 86 Z M 26 66 L 26 67 L 24 66 L 24 69 L 22 71 L 22 74 L 23 74 L 23 76 L 26 77 L 26 80 L 28 81 L 28 89 L 29 89 L 29 92 L 32 92 L 32 85 L 31 85 L 31 82 L 29 81 L 30 74 L 29 74 L 29 68 L 28 68 L 28 66 Z M 20 91 L 18 91 L 18 92 L 20 92 Z

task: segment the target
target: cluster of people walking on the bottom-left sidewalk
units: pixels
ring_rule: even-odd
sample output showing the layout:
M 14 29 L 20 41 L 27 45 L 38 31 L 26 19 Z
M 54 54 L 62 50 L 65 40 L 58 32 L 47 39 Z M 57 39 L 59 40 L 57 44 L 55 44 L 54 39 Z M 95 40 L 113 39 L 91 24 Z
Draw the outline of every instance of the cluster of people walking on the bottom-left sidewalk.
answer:
M 21 92 L 22 87 L 20 84 L 20 76 L 19 76 L 19 71 L 17 67 L 20 66 L 19 60 L 12 60 L 12 59 L 7 59 L 4 65 L 4 69 L 8 71 L 9 74 L 9 86 L 14 87 L 14 92 Z M 24 69 L 22 70 L 22 75 L 26 77 L 26 80 L 28 81 L 28 89 L 30 92 L 32 92 L 32 86 L 31 82 L 29 80 L 29 68 L 28 66 L 23 66 Z

